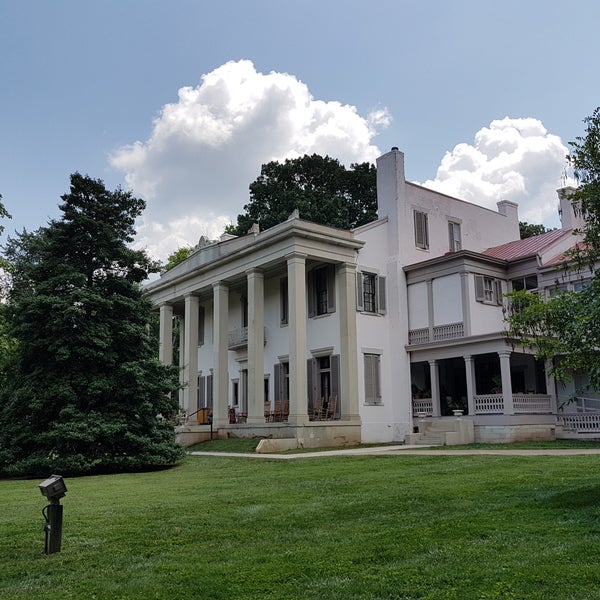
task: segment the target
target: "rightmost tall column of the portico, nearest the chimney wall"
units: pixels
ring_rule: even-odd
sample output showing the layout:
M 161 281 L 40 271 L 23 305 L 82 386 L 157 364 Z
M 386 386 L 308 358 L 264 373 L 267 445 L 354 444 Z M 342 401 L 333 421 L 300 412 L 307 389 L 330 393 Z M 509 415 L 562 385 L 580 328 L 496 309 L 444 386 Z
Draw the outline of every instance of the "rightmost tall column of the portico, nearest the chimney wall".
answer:
M 340 409 L 342 421 L 360 421 L 356 341 L 356 265 L 338 266 L 340 306 Z

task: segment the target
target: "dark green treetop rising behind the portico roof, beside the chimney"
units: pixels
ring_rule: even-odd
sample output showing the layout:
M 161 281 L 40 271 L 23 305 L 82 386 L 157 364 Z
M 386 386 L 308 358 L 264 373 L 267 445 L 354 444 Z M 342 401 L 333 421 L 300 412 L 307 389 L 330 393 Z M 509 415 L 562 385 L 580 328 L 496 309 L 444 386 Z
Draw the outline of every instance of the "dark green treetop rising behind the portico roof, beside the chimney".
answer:
M 264 164 L 250 184 L 250 202 L 227 233 L 245 235 L 254 223 L 261 230 L 285 221 L 295 209 L 300 218 L 339 229 L 377 219 L 376 168 L 369 163 L 346 169 L 317 154 Z

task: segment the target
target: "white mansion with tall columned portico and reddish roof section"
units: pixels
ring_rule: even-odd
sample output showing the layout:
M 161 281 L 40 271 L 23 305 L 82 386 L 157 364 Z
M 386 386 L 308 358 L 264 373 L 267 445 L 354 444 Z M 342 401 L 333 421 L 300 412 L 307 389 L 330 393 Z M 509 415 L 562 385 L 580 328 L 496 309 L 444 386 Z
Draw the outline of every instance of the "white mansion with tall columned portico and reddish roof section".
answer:
M 568 190 L 562 228 L 520 240 L 516 204 L 496 212 L 409 183 L 392 148 L 377 203 L 378 219 L 353 231 L 294 214 L 202 242 L 148 285 L 161 360 L 176 350 L 182 367 L 183 443 L 211 429 L 271 448 L 568 429 L 557 407 L 573 390 L 507 338 L 503 312 L 508 291 L 586 284 L 556 268 L 579 240 Z

